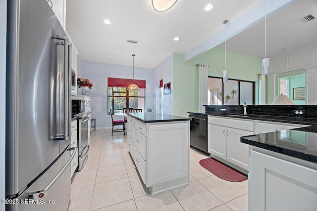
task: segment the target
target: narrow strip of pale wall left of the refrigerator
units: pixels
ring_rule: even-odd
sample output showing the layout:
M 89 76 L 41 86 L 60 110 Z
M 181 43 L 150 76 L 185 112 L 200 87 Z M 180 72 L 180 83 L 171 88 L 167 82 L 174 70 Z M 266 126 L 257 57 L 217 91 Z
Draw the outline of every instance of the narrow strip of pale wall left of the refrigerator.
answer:
M 5 57 L 6 57 L 6 0 L 0 1 L 0 199 L 5 198 Z M 4 211 L 0 204 L 0 210 Z

